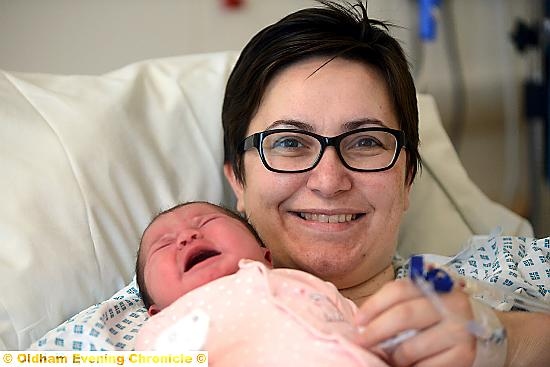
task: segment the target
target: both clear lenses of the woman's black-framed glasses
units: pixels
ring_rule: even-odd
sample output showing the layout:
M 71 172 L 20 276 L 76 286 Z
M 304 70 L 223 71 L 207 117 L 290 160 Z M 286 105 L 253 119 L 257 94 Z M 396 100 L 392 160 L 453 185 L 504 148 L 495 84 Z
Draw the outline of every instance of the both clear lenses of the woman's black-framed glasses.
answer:
M 355 169 L 375 170 L 391 165 L 397 140 L 386 131 L 360 131 L 340 140 L 341 158 Z M 262 144 L 266 163 L 274 169 L 299 171 L 320 159 L 322 144 L 301 132 L 280 132 L 265 136 Z

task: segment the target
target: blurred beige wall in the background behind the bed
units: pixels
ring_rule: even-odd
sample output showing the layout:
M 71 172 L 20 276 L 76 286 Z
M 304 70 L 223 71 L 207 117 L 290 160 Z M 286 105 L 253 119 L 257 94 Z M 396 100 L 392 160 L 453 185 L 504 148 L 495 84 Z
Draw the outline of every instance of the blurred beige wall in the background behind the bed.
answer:
M 537 1 L 443 2 L 451 4 L 454 13 L 467 91 L 460 156 L 490 197 L 527 215 L 526 122 L 519 108 L 521 83 L 531 69 L 512 48 L 509 32 L 516 18 L 540 14 Z M 223 4 L 224 0 L 0 0 L 0 68 L 98 74 L 147 58 L 238 50 L 258 29 L 314 1 L 243 0 L 234 10 Z M 456 67 L 446 53 L 449 43 L 441 24 L 437 41 L 421 47 L 415 4 L 370 0 L 369 14 L 403 27 L 393 33 L 411 57 L 418 88 L 436 96 L 452 131 L 453 117 L 460 116 L 453 109 Z M 507 129 L 516 134 L 507 134 Z M 550 196 L 548 190 L 545 193 Z M 544 209 L 549 218 L 547 202 Z M 544 226 L 550 234 L 550 224 Z

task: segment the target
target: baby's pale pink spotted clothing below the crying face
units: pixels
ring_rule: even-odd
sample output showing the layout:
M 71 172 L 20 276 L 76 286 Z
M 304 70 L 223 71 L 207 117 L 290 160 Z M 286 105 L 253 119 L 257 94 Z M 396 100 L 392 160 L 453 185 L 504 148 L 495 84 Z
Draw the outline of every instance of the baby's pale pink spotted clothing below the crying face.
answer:
M 242 260 L 239 267 L 152 316 L 138 333 L 136 350 L 192 346 L 207 350 L 216 367 L 387 366 L 350 341 L 356 307 L 331 283 L 255 261 Z M 189 315 L 199 316 L 186 320 Z

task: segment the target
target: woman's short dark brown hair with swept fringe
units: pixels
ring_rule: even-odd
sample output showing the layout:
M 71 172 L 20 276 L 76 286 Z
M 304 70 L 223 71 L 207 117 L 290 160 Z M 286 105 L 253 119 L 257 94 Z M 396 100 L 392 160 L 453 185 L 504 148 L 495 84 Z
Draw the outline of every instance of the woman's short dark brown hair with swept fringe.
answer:
M 416 89 L 407 58 L 389 34 L 390 23 L 369 19 L 367 5 L 318 0 L 322 7 L 298 10 L 257 33 L 242 50 L 227 82 L 222 109 L 224 160 L 244 183 L 238 145 L 246 137 L 268 84 L 288 66 L 312 57 L 362 62 L 387 83 L 405 133 L 407 182 L 421 168 Z

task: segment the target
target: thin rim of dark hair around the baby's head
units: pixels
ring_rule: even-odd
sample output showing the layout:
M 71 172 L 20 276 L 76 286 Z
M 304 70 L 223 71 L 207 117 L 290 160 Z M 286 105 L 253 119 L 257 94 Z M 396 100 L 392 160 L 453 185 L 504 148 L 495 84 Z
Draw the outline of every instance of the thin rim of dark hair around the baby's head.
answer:
M 228 216 L 237 219 L 238 221 L 240 221 L 241 223 L 244 224 L 244 226 L 252 233 L 252 235 L 254 235 L 254 237 L 258 241 L 258 244 L 261 247 L 265 247 L 265 244 L 264 244 L 263 240 L 260 238 L 260 235 L 258 234 L 258 232 L 256 232 L 254 227 L 252 227 L 252 225 L 245 218 L 241 217 L 238 213 L 234 212 L 233 210 L 231 210 L 229 208 L 226 208 L 223 205 L 215 205 L 215 204 L 209 203 L 207 201 L 188 201 L 188 202 L 185 202 L 185 203 L 175 205 L 175 206 L 173 206 L 169 209 L 166 209 L 166 210 L 160 212 L 159 214 L 155 215 L 155 217 L 151 220 L 151 222 L 147 225 L 147 227 L 143 231 L 143 233 L 141 235 L 141 239 L 139 241 L 139 247 L 138 247 L 137 257 L 136 257 L 136 281 L 137 281 L 137 284 L 138 284 L 139 293 L 141 294 L 141 298 L 143 299 L 143 303 L 145 304 L 145 307 L 147 309 L 149 307 L 151 307 L 151 305 L 154 304 L 154 300 L 151 297 L 151 295 L 149 294 L 149 292 L 147 291 L 147 286 L 145 285 L 145 275 L 144 275 L 144 272 L 143 272 L 144 267 L 145 267 L 145 263 L 143 262 L 144 260 L 141 258 L 141 245 L 142 245 L 142 242 L 143 242 L 143 235 L 147 231 L 147 228 L 149 228 L 151 226 L 151 224 L 153 224 L 153 222 L 156 219 L 158 219 L 160 216 L 162 216 L 166 213 L 173 212 L 174 210 L 176 210 L 178 208 L 181 208 L 183 206 L 187 206 L 187 205 L 190 205 L 190 204 L 208 204 L 208 205 L 211 205 L 211 206 L 219 209 L 222 213 L 227 214 Z

